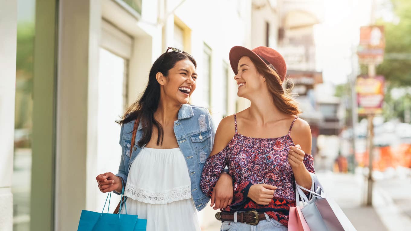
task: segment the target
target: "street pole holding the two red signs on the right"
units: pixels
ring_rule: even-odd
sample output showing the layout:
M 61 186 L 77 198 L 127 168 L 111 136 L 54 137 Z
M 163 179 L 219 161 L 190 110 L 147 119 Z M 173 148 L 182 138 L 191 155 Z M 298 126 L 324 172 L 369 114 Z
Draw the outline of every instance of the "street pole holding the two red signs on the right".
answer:
M 368 76 L 369 78 L 374 78 L 375 76 L 375 63 L 371 62 L 368 64 Z M 367 187 L 367 206 L 372 206 L 372 162 L 374 160 L 373 149 L 374 149 L 374 114 L 370 113 L 367 116 L 368 119 L 368 187 Z

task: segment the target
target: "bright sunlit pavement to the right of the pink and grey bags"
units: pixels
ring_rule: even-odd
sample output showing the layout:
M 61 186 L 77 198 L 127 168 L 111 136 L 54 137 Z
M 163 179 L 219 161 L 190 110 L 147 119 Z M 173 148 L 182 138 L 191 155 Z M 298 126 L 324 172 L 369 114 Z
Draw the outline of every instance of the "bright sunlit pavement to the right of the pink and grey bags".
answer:
M 317 173 L 326 191 L 342 208 L 358 231 L 407 231 L 411 227 L 411 217 L 394 203 L 389 190 L 402 191 L 404 185 L 390 180 L 374 183 L 372 207 L 362 206 L 365 182 L 361 174 Z M 409 186 L 408 186 L 409 187 Z M 404 194 L 403 194 L 404 195 Z M 410 208 L 408 208 L 410 209 Z

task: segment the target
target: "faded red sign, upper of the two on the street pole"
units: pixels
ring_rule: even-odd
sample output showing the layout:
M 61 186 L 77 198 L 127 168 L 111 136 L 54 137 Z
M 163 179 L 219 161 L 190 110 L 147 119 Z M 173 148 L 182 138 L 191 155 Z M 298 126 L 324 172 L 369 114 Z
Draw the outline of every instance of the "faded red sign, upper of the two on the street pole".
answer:
M 362 26 L 357 54 L 361 63 L 381 63 L 384 58 L 385 37 L 383 26 Z

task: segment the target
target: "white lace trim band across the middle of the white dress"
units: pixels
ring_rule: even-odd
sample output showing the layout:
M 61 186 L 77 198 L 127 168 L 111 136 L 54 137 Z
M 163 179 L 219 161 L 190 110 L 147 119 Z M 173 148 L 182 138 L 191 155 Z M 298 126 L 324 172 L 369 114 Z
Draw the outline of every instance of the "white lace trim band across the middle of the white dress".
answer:
M 150 204 L 166 204 L 192 197 L 190 185 L 177 187 L 162 192 L 150 192 L 145 189 L 137 188 L 129 183 L 126 184 L 124 195 L 133 200 Z

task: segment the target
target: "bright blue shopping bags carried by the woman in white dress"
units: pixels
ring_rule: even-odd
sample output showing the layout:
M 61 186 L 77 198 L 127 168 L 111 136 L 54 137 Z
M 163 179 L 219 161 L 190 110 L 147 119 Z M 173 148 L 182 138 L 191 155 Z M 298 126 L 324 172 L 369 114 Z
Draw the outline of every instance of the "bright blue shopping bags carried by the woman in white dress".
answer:
M 124 193 L 124 187 L 121 192 L 121 196 Z M 104 213 L 107 199 L 109 199 L 109 206 L 107 213 Z M 82 210 L 79 228 L 77 231 L 145 231 L 147 226 L 146 219 L 139 219 L 137 215 L 127 214 L 127 205 L 124 202 L 126 214 L 112 214 L 109 213 L 111 192 L 107 195 L 106 202 L 104 203 L 103 211 L 101 213 L 92 212 L 88 210 Z M 122 201 L 120 202 L 120 211 L 122 207 Z

